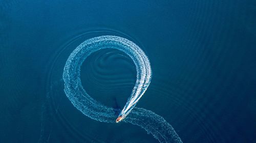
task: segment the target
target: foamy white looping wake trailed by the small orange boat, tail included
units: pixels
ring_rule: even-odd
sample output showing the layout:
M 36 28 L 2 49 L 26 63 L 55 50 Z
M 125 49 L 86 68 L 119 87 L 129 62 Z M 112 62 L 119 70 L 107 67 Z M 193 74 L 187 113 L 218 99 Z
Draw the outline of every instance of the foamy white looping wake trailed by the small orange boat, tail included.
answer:
M 121 112 L 94 100 L 87 94 L 81 84 L 80 67 L 83 61 L 91 53 L 103 48 L 114 48 L 123 51 L 130 56 L 136 67 L 137 80 L 135 87 Z M 72 104 L 84 115 L 94 120 L 108 123 L 123 120 L 140 126 L 160 142 L 182 142 L 173 127 L 162 117 L 150 110 L 135 107 L 150 84 L 151 76 L 150 62 L 145 53 L 135 43 L 117 36 L 100 36 L 84 41 L 70 54 L 63 72 L 64 90 Z M 116 112 L 120 112 L 118 118 Z M 129 116 L 127 116 L 128 114 Z

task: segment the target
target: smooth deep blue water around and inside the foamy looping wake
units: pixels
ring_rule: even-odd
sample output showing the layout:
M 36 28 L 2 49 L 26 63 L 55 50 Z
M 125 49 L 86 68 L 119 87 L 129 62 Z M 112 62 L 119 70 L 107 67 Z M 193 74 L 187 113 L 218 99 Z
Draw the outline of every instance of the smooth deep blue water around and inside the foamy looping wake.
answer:
M 0 1 L 0 142 L 157 142 L 138 126 L 84 116 L 64 93 L 63 67 L 83 41 L 116 35 L 151 62 L 137 107 L 183 142 L 255 142 L 256 2 Z M 123 108 L 133 61 L 99 50 L 81 66 L 84 89 Z

